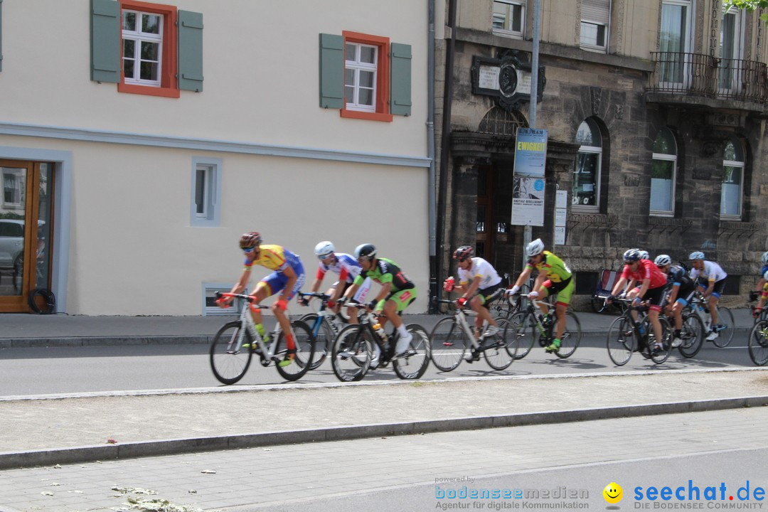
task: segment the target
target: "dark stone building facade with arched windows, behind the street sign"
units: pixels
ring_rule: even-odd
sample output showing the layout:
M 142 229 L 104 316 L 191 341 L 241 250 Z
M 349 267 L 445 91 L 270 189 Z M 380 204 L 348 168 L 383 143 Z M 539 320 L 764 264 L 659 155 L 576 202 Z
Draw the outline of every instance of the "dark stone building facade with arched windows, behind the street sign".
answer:
M 576 272 L 577 304 L 630 247 L 685 263 L 702 250 L 730 274 L 730 302 L 756 282 L 768 249 L 768 29 L 759 15 L 725 14 L 720 0 L 541 0 L 536 128 L 548 130 L 548 148 L 545 222 L 532 235 Z M 502 82 L 508 62 L 525 80 L 533 18 L 534 0 L 446 2 L 435 123 L 443 273 L 463 243 L 500 271 L 521 269 L 523 228 L 510 220 L 529 101 Z M 478 78 L 495 63 L 498 94 Z M 557 190 L 568 193 L 564 243 L 554 237 Z

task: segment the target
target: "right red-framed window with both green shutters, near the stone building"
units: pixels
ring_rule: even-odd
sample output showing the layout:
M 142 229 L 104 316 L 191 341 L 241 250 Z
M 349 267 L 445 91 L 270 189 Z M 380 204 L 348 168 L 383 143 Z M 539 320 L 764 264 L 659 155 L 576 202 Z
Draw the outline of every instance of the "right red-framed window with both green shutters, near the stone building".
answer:
M 320 34 L 320 107 L 392 121 L 411 114 L 411 46 L 344 31 Z

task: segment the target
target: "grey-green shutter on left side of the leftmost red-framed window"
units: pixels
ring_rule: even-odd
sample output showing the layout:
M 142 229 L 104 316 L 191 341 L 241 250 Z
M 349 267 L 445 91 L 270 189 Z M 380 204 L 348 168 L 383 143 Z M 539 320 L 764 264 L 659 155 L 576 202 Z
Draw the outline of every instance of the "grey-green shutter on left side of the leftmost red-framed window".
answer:
M 120 4 L 91 0 L 91 80 L 120 82 Z

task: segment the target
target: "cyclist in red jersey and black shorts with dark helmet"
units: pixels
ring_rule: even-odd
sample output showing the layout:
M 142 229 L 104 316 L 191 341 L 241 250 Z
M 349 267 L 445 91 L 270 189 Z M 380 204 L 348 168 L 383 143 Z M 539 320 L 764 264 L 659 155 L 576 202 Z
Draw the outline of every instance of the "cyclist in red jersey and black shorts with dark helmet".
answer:
M 614 285 L 614 289 L 611 290 L 611 296 L 608 297 L 608 301 L 614 299 L 615 296 L 622 289 L 627 282 L 634 281 L 640 283 L 637 286 L 627 292 L 627 298 L 633 299 L 633 304 L 640 304 L 642 299 L 645 299 L 650 304 L 648 309 L 648 319 L 650 325 L 654 328 L 654 336 L 656 343 L 652 349 L 654 352 L 662 352 L 664 350 L 661 345 L 661 322 L 659 322 L 659 312 L 661 311 L 662 303 L 665 300 L 664 289 L 667 288 L 667 276 L 660 271 L 659 267 L 650 259 L 641 259 L 639 249 L 629 249 L 624 253 L 624 272 L 621 273 L 621 278 Z M 632 312 L 632 317 L 637 324 L 637 312 Z

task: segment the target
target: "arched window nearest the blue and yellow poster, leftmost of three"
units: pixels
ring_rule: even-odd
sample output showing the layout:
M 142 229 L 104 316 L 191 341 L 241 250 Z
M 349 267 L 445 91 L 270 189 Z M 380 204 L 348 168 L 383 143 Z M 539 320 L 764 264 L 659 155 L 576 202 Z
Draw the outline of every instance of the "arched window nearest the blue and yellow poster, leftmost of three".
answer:
M 576 155 L 574 169 L 574 205 L 591 206 L 587 210 L 598 210 L 600 206 L 601 163 L 603 160 L 603 137 L 593 119 L 584 120 L 576 132 L 576 144 L 581 144 Z

